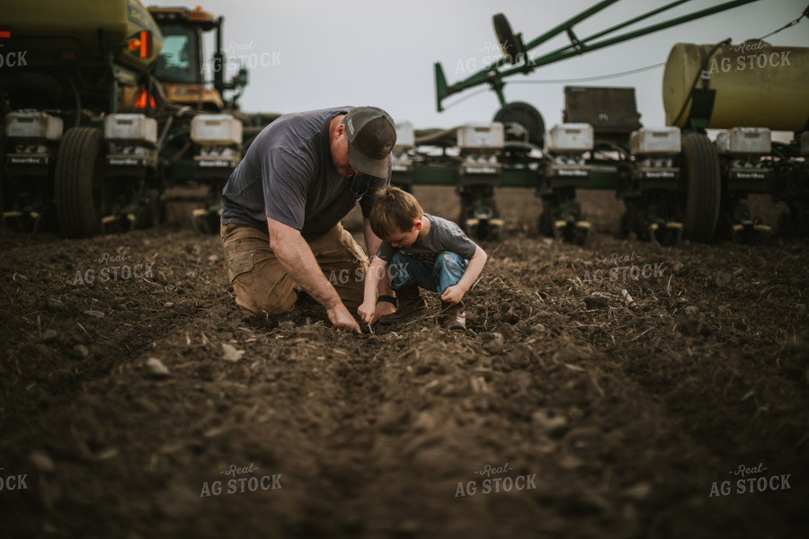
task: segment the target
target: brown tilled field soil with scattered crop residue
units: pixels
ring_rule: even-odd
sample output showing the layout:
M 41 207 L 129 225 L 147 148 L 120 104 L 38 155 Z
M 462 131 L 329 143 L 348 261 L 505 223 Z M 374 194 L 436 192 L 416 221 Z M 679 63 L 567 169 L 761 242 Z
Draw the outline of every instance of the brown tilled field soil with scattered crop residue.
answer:
M 246 319 L 182 208 L 0 233 L 0 535 L 805 536 L 807 243 L 621 240 L 594 191 L 577 246 L 497 197 L 466 332 Z

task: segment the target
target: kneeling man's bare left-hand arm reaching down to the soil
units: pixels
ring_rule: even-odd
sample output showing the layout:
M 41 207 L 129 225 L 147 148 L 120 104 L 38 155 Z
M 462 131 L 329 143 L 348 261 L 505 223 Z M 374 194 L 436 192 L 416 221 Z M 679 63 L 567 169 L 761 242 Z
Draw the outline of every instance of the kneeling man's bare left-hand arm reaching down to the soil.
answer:
M 315 254 L 300 232 L 270 217 L 267 217 L 267 227 L 270 230 L 272 251 L 289 275 L 295 276 L 298 286 L 325 307 L 329 320 L 335 326 L 360 332 L 360 325 L 342 304 L 342 299 L 332 284 L 324 277 Z

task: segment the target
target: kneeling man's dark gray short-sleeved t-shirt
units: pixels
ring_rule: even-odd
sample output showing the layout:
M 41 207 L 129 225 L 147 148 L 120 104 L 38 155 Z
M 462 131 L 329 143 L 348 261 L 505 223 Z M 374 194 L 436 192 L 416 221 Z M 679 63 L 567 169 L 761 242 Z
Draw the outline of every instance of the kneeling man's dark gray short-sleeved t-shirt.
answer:
M 307 240 L 327 233 L 360 202 L 369 216 L 387 178 L 343 178 L 334 167 L 329 123 L 353 107 L 286 114 L 264 128 L 222 191 L 222 223 L 267 231 L 267 217 Z

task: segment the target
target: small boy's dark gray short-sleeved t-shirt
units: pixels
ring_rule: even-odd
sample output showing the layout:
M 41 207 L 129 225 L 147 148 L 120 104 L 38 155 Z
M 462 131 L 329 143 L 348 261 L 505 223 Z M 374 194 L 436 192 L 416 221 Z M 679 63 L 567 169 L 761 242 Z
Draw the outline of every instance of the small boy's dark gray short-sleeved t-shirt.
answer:
M 389 262 L 394 252 L 398 251 L 411 256 L 417 261 L 424 262 L 432 267 L 441 252 L 455 252 L 469 260 L 477 250 L 477 244 L 464 234 L 458 225 L 443 217 L 423 214 L 430 219 L 430 232 L 423 238 L 418 238 L 410 247 L 394 247 L 388 242 L 382 242 L 377 250 L 377 256 Z

